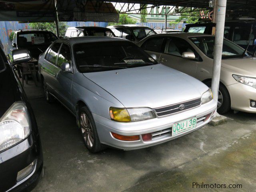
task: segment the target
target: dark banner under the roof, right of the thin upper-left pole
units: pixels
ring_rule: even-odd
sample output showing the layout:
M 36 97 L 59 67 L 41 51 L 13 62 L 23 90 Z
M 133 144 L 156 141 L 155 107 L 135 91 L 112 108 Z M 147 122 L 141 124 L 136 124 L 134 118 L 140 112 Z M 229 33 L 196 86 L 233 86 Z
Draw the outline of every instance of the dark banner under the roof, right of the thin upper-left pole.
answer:
M 90 0 L 57 0 L 59 21 L 118 22 L 112 3 Z

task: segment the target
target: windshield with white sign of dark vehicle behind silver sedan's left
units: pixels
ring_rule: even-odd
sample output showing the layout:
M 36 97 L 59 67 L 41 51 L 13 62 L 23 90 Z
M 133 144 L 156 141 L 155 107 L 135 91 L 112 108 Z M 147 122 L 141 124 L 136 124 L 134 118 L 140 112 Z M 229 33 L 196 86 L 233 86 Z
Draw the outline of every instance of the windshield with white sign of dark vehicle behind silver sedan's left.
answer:
M 22 32 L 18 33 L 17 44 L 19 47 L 50 45 L 56 39 L 51 32 Z

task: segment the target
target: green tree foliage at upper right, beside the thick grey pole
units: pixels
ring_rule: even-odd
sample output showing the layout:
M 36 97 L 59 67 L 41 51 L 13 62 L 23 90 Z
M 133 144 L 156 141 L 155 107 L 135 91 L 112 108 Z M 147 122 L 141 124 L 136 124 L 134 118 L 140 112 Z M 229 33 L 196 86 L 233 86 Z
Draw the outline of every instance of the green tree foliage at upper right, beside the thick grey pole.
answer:
M 200 11 L 195 11 L 195 12 L 189 12 L 189 11 L 190 11 L 190 8 L 185 8 L 183 10 L 183 13 L 180 14 L 180 18 L 176 19 L 175 21 L 170 22 L 170 25 L 178 24 L 184 19 L 186 19 L 187 23 L 196 23 L 196 22 L 198 22 Z M 190 15 L 190 16 L 188 16 L 188 15 Z

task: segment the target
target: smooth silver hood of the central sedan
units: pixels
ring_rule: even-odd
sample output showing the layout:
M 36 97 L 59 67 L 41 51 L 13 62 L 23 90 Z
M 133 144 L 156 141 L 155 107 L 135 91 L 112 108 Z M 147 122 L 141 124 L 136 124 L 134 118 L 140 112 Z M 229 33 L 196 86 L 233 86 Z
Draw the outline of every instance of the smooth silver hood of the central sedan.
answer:
M 162 64 L 84 73 L 125 107 L 157 108 L 199 98 L 208 87 Z

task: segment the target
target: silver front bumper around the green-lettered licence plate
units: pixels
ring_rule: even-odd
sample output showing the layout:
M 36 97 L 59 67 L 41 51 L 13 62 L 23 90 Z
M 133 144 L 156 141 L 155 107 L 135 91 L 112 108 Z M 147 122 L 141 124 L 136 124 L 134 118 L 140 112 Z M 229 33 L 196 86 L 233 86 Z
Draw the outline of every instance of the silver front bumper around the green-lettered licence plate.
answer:
M 140 148 L 146 148 L 149 146 L 154 146 L 169 140 L 184 136 L 190 132 L 202 128 L 204 125 L 213 118 L 213 112 L 216 110 L 216 102 L 214 100 L 203 104 L 199 107 L 180 112 L 178 114 L 173 114 L 170 116 L 154 118 L 150 120 L 144 120 L 139 122 L 129 122 L 121 123 L 115 122 L 110 119 L 98 116 L 97 114 L 92 114 L 96 124 L 98 136 L 102 144 L 112 146 L 114 148 L 120 148 L 124 150 L 135 150 Z M 204 121 L 202 118 L 208 114 L 211 114 L 208 120 Z M 172 136 L 171 130 L 172 125 L 176 122 L 186 120 L 188 118 L 196 117 L 198 122 L 196 128 L 182 132 L 181 134 Z M 168 131 L 168 132 L 167 132 Z M 112 136 L 110 132 L 124 136 L 134 136 L 140 135 L 140 140 L 138 141 L 122 141 L 117 140 Z M 153 133 L 156 137 L 152 137 L 151 141 L 143 141 L 142 134 Z M 164 134 L 165 133 L 165 134 Z M 169 133 L 169 134 L 167 134 Z M 153 135 L 152 134 L 152 135 Z

